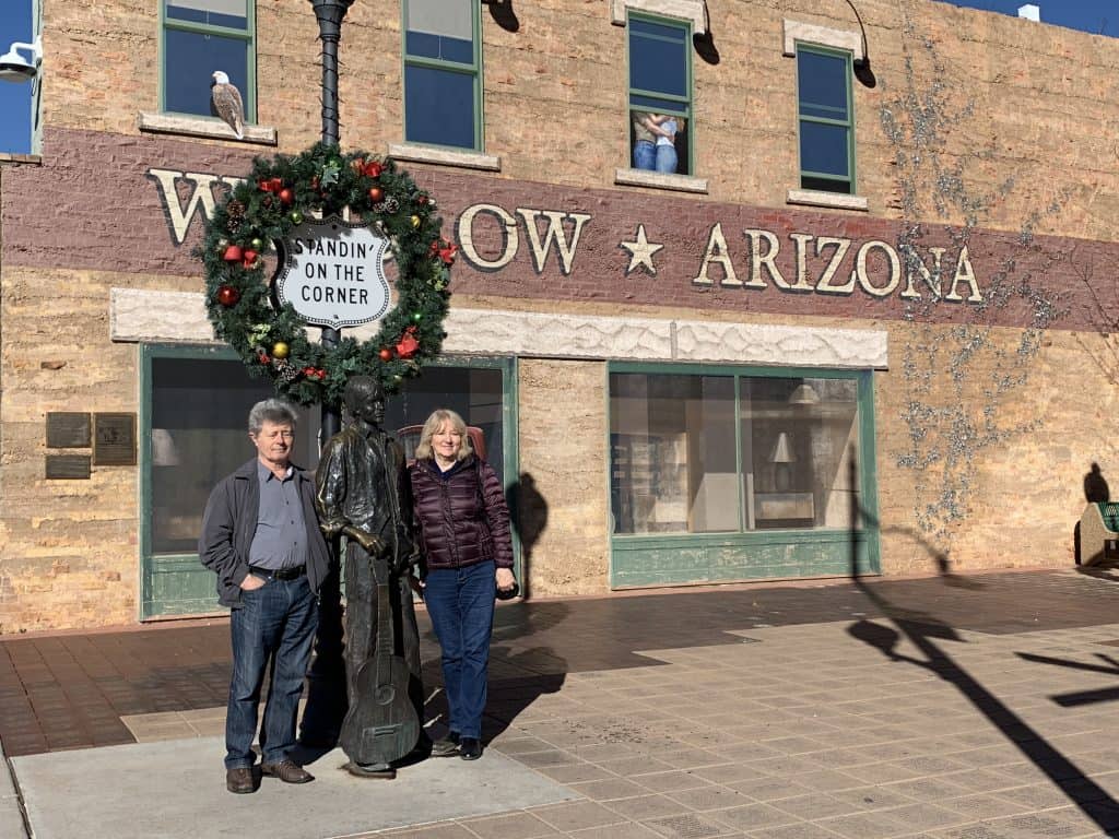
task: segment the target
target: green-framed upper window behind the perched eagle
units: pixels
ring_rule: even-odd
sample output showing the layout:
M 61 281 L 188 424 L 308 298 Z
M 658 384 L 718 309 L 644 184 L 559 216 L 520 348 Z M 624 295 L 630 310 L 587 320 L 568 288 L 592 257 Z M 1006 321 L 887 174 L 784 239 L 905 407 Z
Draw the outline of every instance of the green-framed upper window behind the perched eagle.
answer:
M 256 122 L 254 0 L 163 0 L 164 112 L 210 116 L 210 83 L 222 70 Z

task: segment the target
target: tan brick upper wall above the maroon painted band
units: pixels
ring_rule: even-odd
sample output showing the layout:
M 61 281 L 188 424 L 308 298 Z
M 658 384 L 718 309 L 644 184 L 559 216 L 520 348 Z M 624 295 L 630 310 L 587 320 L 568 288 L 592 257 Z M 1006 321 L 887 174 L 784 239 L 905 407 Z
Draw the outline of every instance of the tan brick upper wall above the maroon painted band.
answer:
M 158 109 L 158 4 L 44 2 L 45 124 L 135 133 L 138 113 Z M 1108 82 L 1119 40 L 934 0 L 858 6 L 877 79 L 873 89 L 854 83 L 858 191 L 872 215 L 962 224 L 960 196 L 939 178 L 958 173 L 988 226 L 1018 230 L 1040 210 L 1037 232 L 1112 235 L 1116 150 L 1100 126 L 1119 116 Z M 782 207 L 799 186 L 796 60 L 781 56 L 782 20 L 857 23 L 840 0 L 708 10 L 720 60 L 693 55 L 696 173 L 714 200 Z M 628 166 L 626 29 L 611 25 L 605 0 L 542 0 L 516 16 L 519 28 L 507 31 L 482 9 L 486 150 L 501 157 L 500 176 L 612 186 L 614 168 Z M 305 0 L 257 3 L 258 122 L 279 129 L 283 151 L 320 134 L 317 32 Z M 399 49 L 398 7 L 355 3 L 341 46 L 344 144 L 384 151 L 402 140 Z M 886 113 L 904 125 L 920 114 L 912 178 Z M 900 179 L 915 187 L 908 214 Z M 1061 211 L 1046 213 L 1054 202 Z

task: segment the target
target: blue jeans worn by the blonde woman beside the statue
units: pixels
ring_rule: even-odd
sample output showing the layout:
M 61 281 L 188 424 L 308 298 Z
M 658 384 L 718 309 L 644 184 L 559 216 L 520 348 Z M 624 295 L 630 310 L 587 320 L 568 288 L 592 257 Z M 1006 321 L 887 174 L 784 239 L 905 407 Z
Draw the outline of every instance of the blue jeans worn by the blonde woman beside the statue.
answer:
M 443 651 L 448 724 L 462 737 L 481 738 L 489 641 L 493 631 L 493 563 L 429 572 L 424 602 Z

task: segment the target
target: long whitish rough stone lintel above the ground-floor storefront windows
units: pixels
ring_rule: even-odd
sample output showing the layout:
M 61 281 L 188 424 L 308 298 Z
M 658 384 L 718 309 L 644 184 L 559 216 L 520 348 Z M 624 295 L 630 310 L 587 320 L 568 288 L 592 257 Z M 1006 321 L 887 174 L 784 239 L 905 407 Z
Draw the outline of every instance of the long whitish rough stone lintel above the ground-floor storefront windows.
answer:
M 201 294 L 113 289 L 110 332 L 121 342 L 215 345 Z M 452 309 L 446 355 L 633 361 L 720 361 L 885 369 L 887 332 L 876 329 Z M 370 334 L 376 326 L 366 330 Z M 355 334 L 360 338 L 363 336 Z

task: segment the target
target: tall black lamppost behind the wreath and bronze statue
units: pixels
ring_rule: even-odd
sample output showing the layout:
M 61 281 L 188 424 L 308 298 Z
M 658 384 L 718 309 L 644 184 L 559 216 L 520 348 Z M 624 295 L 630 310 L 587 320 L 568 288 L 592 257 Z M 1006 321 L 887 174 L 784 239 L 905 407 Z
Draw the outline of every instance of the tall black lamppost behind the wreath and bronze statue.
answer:
M 322 142 L 328 145 L 338 145 L 338 43 L 342 37 L 342 18 L 354 1 L 310 0 L 319 21 L 319 40 L 322 41 Z M 338 338 L 337 329 L 322 328 L 323 347 L 337 346 Z M 321 443 L 325 445 L 340 430 L 338 406 L 323 403 Z M 335 571 L 319 591 L 319 629 L 314 639 L 314 661 L 308 672 L 307 708 L 300 730 L 300 743 L 316 748 L 333 747 L 346 714 L 338 539 L 331 540 L 330 550 L 336 559 Z

